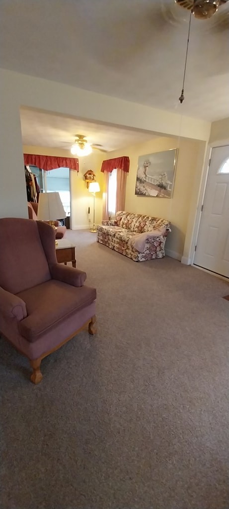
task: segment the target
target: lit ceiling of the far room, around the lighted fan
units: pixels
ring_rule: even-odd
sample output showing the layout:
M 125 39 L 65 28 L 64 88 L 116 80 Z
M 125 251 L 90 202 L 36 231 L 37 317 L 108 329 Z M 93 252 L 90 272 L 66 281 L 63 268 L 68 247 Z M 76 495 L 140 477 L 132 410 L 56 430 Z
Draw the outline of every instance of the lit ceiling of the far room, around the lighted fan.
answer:
M 20 119 L 23 145 L 70 151 L 75 134 L 83 134 L 89 143 L 98 144 L 100 150 L 109 152 L 156 137 L 149 131 L 86 122 L 30 108 L 21 108 Z

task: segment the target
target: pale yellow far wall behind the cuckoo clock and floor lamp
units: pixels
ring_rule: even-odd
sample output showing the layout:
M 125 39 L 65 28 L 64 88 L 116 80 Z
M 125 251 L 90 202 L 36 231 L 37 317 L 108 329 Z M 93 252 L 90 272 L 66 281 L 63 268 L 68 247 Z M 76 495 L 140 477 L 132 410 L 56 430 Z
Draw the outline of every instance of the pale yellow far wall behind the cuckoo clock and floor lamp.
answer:
M 44 147 L 23 146 L 23 152 L 26 154 L 40 154 L 50 156 L 69 157 L 69 150 L 52 149 Z M 100 172 L 104 154 L 95 151 L 87 157 L 79 157 L 79 173 L 72 171 L 70 176 L 71 183 L 71 227 L 73 230 L 90 228 L 90 222 L 93 223 L 93 195 L 90 194 L 87 183 L 84 180 L 84 173 L 88 169 L 96 174 L 96 180 L 99 182 L 101 191 L 96 193 L 95 197 L 95 222 L 98 224 L 102 218 L 102 190 L 103 175 Z M 90 207 L 90 215 L 88 208 Z

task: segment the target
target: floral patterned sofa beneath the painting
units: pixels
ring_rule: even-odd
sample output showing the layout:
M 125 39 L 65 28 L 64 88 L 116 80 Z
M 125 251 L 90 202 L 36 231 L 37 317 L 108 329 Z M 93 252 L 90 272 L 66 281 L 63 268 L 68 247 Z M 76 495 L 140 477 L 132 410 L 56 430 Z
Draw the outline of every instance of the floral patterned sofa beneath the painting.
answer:
M 98 226 L 97 242 L 134 262 L 163 258 L 169 226 L 166 219 L 120 211 L 114 220 L 102 221 Z

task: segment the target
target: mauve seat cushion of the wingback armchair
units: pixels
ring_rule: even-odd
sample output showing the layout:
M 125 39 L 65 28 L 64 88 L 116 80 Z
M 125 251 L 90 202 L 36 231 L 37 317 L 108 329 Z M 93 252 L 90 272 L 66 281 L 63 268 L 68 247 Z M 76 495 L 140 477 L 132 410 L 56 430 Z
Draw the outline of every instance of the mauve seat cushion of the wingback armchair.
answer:
M 33 343 L 63 318 L 92 304 L 96 290 L 87 286 L 76 288 L 51 279 L 17 295 L 25 302 L 28 315 L 19 324 L 20 333 Z

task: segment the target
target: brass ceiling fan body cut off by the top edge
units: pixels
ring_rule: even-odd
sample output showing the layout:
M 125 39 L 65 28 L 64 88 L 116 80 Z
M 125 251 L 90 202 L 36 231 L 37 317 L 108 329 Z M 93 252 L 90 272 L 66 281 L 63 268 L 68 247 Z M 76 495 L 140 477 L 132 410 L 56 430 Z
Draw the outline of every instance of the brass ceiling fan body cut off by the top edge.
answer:
M 176 4 L 188 9 L 197 19 L 209 19 L 228 0 L 175 0 Z

